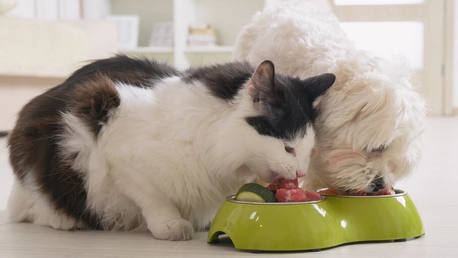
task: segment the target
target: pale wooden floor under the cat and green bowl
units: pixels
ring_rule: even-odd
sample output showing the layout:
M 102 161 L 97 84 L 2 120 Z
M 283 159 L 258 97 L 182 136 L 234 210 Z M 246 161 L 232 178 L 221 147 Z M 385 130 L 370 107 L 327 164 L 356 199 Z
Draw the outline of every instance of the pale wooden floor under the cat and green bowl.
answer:
M 0 142 L 0 144 L 4 144 Z M 423 160 L 397 188 L 408 190 L 426 234 L 396 243 L 342 245 L 320 252 L 237 250 L 230 241 L 210 245 L 206 232 L 184 242 L 153 239 L 147 233 L 59 231 L 28 223 L 8 224 L 6 198 L 11 189 L 6 151 L 0 148 L 0 257 L 458 257 L 458 118 L 430 118 Z

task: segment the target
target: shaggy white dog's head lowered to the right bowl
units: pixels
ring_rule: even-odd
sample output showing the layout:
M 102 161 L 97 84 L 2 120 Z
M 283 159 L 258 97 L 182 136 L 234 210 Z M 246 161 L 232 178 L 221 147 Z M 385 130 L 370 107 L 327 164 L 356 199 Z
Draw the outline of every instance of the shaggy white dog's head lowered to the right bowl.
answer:
M 377 191 L 409 175 L 421 156 L 424 102 L 410 76 L 381 61 L 338 63 L 317 103 L 312 173 L 336 190 Z

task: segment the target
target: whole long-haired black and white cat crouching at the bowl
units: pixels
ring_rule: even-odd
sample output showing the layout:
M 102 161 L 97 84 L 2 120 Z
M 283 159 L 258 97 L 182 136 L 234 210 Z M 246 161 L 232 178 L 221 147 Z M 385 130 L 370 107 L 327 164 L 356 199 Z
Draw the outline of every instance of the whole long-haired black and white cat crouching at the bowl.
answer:
M 19 113 L 11 219 L 189 239 L 256 176 L 305 174 L 312 103 L 334 80 L 275 75 L 270 61 L 187 71 L 122 55 L 92 62 Z

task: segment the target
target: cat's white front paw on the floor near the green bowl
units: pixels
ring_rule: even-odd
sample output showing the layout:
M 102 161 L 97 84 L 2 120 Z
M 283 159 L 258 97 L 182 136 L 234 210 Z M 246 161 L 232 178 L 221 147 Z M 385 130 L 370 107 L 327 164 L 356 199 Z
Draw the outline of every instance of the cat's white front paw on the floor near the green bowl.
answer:
M 184 219 L 173 219 L 156 225 L 151 233 L 157 239 L 163 240 L 189 240 L 194 234 L 191 222 Z

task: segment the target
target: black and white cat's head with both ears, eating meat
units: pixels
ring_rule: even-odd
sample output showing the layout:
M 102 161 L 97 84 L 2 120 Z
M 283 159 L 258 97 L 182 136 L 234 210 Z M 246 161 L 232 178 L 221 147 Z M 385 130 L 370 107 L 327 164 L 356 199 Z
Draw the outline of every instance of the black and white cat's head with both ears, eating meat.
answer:
M 313 102 L 334 80 L 275 75 L 271 61 L 259 64 L 243 92 L 237 132 L 251 172 L 266 182 L 305 175 L 315 142 Z

